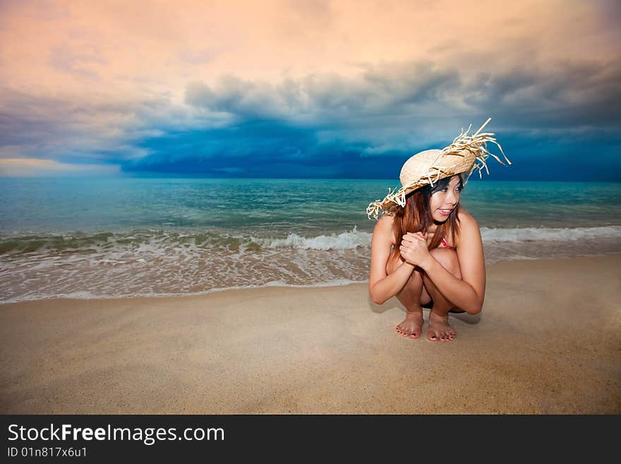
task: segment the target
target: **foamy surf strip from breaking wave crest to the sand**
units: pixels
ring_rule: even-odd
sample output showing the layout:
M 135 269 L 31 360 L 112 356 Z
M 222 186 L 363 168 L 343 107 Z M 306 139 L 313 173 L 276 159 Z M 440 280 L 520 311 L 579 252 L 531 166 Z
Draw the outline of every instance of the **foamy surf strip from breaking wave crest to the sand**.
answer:
M 296 231 L 297 232 L 297 231 Z M 621 227 L 481 230 L 486 263 L 621 253 Z M 310 235 L 310 234 L 309 234 Z M 201 295 L 368 279 L 370 232 L 232 236 L 140 230 L 0 238 L 0 303 Z

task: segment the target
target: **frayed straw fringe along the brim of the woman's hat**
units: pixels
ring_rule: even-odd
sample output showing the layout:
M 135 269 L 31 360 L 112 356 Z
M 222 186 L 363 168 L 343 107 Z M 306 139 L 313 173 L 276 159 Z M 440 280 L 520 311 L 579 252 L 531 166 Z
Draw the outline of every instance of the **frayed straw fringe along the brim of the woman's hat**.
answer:
M 487 174 L 490 173 L 487 162 L 486 162 L 486 160 L 490 156 L 493 157 L 496 161 L 500 162 L 501 165 L 506 166 L 505 163 L 502 162 L 502 160 L 500 160 L 500 157 L 498 157 L 494 153 L 491 153 L 487 149 L 488 142 L 494 143 L 495 145 L 497 145 L 498 148 L 500 149 L 500 153 L 502 153 L 502 156 L 505 158 L 505 161 L 507 162 L 507 164 L 511 165 L 511 162 L 509 158 L 507 158 L 507 155 L 505 155 L 505 152 L 502 150 L 500 143 L 498 143 L 498 141 L 496 141 L 496 139 L 493 137 L 495 134 L 493 132 L 481 132 L 483 128 L 487 126 L 488 122 L 491 120 L 492 118 L 488 118 L 488 120 L 485 121 L 483 126 L 479 127 L 478 131 L 476 131 L 471 136 L 469 136 L 468 133 L 470 132 L 470 129 L 472 128 L 472 124 L 470 124 L 470 126 L 465 132 L 464 132 L 464 128 L 462 128 L 462 131 L 461 133 L 459 133 L 459 136 L 455 137 L 453 139 L 453 142 L 450 145 L 448 145 L 445 148 L 442 148 L 442 150 L 440 151 L 440 154 L 438 155 L 438 159 L 441 156 L 445 156 L 445 155 L 464 156 L 463 155 L 464 151 L 469 151 L 470 153 L 474 155 L 475 162 L 472 165 L 472 167 L 469 169 L 469 171 L 464 175 L 464 184 L 468 182 L 470 175 L 474 172 L 475 169 L 478 169 L 478 176 L 481 179 L 483 178 L 483 175 L 481 174 L 481 171 L 483 169 L 486 170 Z M 442 174 L 452 173 L 452 169 L 454 167 L 457 167 L 458 165 L 459 163 L 455 163 L 454 165 L 445 166 L 445 167 L 439 167 L 439 166 L 432 165 L 429 171 L 426 172 L 426 174 L 423 174 L 421 177 L 426 179 L 428 184 L 430 184 L 433 187 L 433 184 L 435 184 L 435 182 L 438 182 L 440 180 L 440 176 Z M 435 177 L 435 181 L 432 179 L 433 177 Z M 411 186 L 415 184 L 416 183 L 404 185 L 398 190 L 397 190 L 397 187 L 395 187 L 393 191 L 390 191 L 390 188 L 389 188 L 388 194 L 387 196 L 385 196 L 383 200 L 376 200 L 376 201 L 373 201 L 372 203 L 369 203 L 369 206 L 366 208 L 366 213 L 367 213 L 368 218 L 370 219 L 371 216 L 373 216 L 373 218 L 377 219 L 379 213 L 382 210 L 386 210 L 387 207 L 390 207 L 394 204 L 405 207 L 405 192 L 407 189 L 409 189 Z

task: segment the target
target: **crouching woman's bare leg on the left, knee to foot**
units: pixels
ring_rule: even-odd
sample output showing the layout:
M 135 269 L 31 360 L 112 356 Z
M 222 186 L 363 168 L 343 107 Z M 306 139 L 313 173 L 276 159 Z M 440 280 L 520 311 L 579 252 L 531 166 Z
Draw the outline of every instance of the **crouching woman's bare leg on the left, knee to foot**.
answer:
M 399 258 L 392 262 L 389 261 L 386 266 L 386 273 L 394 272 L 402 264 L 403 261 Z M 423 287 L 423 277 L 418 268 L 412 271 L 409 280 L 395 296 L 406 309 L 404 321 L 396 327 L 397 332 L 404 335 L 404 337 L 420 337 L 423 331 L 423 308 L 421 304 L 430 302 L 430 297 Z

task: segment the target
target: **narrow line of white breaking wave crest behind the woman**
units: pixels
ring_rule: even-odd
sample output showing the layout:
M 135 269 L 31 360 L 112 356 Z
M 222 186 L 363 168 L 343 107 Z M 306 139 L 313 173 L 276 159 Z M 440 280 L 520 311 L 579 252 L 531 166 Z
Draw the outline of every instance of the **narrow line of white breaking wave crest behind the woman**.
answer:
M 314 237 L 305 237 L 297 233 L 289 233 L 286 237 L 259 237 L 254 234 L 169 230 L 134 230 L 94 234 L 84 232 L 24 234 L 18 237 L 1 237 L 0 256 L 54 252 L 61 254 L 104 253 L 110 256 L 109 254 L 117 251 L 159 254 L 173 250 L 202 252 L 210 249 L 226 249 L 240 254 L 260 249 L 349 250 L 370 246 L 371 237 L 373 234 L 359 231 L 357 227 L 346 232 L 320 234 Z M 481 237 L 484 243 L 619 239 L 621 238 L 621 226 L 507 229 L 481 227 Z

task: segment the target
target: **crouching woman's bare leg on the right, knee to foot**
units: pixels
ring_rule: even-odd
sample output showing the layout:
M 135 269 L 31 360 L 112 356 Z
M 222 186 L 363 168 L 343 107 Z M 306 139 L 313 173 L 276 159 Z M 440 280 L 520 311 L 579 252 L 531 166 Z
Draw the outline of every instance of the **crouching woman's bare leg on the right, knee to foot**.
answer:
M 447 269 L 456 278 L 462 278 L 462 271 L 459 268 L 459 259 L 457 253 L 450 249 L 437 248 L 430 251 L 436 261 L 438 261 L 445 269 Z M 423 287 L 427 290 L 433 299 L 433 307 L 429 311 L 429 329 L 427 338 L 431 341 L 442 340 L 443 342 L 455 338 L 455 331 L 449 325 L 449 310 L 454 307 L 448 299 L 438 290 L 433 281 L 423 273 Z

